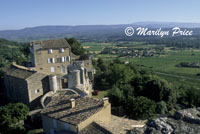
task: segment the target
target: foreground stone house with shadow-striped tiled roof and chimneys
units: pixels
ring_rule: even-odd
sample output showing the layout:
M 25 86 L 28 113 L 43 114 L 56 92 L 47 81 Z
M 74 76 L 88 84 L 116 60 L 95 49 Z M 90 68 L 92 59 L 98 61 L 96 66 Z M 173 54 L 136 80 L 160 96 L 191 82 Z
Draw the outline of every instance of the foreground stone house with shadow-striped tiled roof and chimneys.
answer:
M 46 134 L 111 134 L 97 122 L 110 122 L 111 105 L 101 100 L 69 93 L 54 94 L 41 111 Z

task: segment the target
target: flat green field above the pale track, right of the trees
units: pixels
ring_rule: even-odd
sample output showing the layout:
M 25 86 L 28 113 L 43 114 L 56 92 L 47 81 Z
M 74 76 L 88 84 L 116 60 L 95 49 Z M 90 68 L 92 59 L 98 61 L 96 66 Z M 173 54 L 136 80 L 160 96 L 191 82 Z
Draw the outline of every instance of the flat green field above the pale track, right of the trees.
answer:
M 177 74 L 199 78 L 196 76 L 200 68 L 175 67 L 180 62 L 200 62 L 200 52 L 195 51 L 170 51 L 166 55 L 140 58 L 124 58 L 141 67 L 158 72 Z

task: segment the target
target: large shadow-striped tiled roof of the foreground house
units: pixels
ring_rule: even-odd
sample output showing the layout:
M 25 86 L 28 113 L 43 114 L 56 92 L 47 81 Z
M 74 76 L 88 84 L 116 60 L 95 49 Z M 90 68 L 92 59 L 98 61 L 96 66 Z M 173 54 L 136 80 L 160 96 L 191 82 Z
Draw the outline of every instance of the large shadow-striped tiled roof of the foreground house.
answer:
M 75 99 L 75 107 L 70 107 L 70 99 Z M 41 114 L 77 125 L 103 108 L 103 100 L 79 95 L 59 95 L 42 110 Z

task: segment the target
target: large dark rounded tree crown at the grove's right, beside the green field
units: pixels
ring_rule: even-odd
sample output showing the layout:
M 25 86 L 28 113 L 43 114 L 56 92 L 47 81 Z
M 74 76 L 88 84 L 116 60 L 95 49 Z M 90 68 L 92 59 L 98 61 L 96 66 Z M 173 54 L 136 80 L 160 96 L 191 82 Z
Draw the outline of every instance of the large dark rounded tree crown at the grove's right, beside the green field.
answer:
M 169 83 L 155 75 L 138 76 L 132 81 L 137 96 L 145 96 L 155 102 L 165 101 L 171 109 L 176 102 L 176 92 Z

